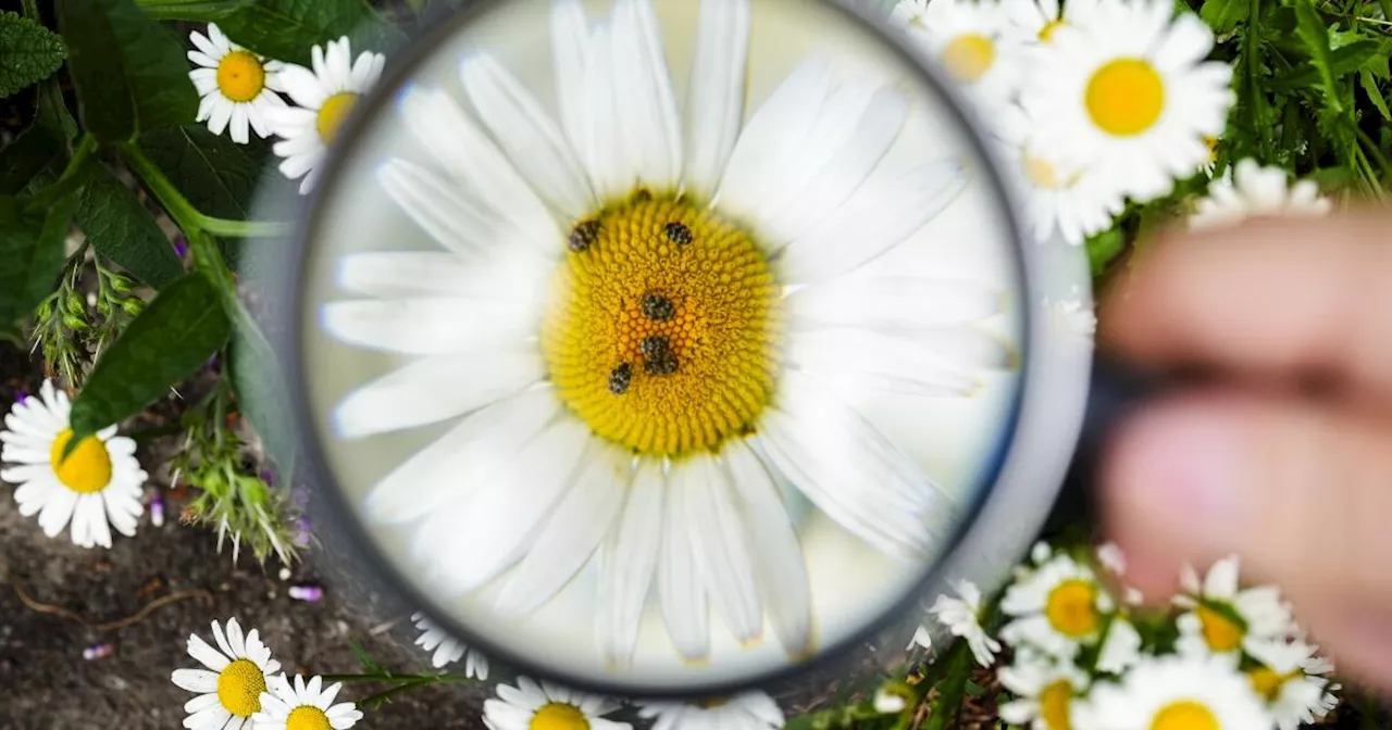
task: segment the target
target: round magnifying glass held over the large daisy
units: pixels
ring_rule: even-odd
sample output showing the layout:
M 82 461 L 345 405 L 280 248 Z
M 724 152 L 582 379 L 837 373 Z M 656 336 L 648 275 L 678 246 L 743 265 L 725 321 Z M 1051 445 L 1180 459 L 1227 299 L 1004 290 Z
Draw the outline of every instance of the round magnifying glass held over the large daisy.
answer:
M 938 67 L 820 0 L 479 1 L 337 132 L 280 274 L 354 559 L 528 674 L 711 695 L 1004 578 L 1086 254 Z

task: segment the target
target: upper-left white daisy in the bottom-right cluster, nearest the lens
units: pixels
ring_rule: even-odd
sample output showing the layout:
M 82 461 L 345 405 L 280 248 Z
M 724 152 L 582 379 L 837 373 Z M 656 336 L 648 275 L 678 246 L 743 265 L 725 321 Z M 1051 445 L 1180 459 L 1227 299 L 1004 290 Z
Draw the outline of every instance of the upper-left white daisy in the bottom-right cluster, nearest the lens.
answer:
M 1072 659 L 1080 645 L 1101 638 L 1112 609 L 1112 599 L 1093 570 L 1068 553 L 1057 553 L 1006 588 L 1001 610 L 1016 619 L 1001 628 L 1001 638 Z

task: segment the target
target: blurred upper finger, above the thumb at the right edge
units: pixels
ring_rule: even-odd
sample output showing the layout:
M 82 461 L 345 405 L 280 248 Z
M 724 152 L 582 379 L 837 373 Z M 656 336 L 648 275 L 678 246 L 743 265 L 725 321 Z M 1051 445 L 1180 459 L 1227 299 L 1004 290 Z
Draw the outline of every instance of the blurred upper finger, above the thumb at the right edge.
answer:
M 1154 364 L 1334 375 L 1392 396 L 1392 217 L 1258 220 L 1157 242 L 1104 296 L 1104 346 Z

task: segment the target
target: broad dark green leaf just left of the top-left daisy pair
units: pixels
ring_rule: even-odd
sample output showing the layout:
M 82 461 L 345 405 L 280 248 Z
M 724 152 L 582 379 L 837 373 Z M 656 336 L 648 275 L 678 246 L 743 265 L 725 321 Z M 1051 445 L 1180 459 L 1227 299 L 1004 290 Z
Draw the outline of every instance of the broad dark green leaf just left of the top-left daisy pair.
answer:
M 184 47 L 132 0 L 58 0 L 82 127 L 104 142 L 198 113 Z

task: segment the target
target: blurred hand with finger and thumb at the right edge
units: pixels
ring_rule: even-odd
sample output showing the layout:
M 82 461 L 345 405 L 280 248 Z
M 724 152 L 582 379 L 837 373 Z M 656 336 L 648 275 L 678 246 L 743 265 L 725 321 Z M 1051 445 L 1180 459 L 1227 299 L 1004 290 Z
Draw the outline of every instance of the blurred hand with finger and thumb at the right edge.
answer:
M 1392 691 L 1392 217 L 1157 242 L 1102 298 L 1098 339 L 1228 375 L 1112 442 L 1102 514 L 1128 578 L 1164 599 L 1183 562 L 1236 553 L 1340 673 Z

